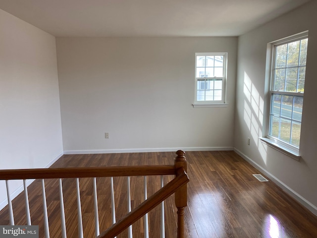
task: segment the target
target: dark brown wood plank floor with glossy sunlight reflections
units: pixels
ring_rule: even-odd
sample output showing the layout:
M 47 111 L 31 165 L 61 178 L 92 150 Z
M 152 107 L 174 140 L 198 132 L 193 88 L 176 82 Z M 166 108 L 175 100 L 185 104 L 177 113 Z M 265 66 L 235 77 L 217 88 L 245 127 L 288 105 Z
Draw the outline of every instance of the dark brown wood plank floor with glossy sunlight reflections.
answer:
M 93 167 L 173 164 L 175 154 L 126 153 L 64 155 L 52 167 Z M 284 193 L 273 182 L 260 182 L 254 167 L 233 151 L 187 152 L 188 207 L 185 212 L 187 238 L 317 238 L 317 217 Z M 171 176 L 164 178 L 167 182 Z M 109 179 L 97 179 L 101 231 L 111 224 Z M 159 188 L 159 177 L 148 178 L 149 196 Z M 116 217 L 126 213 L 126 179 L 114 178 Z M 131 178 L 132 209 L 143 201 L 143 177 Z M 61 237 L 58 181 L 46 180 L 51 238 Z M 67 237 L 78 237 L 75 179 L 63 179 Z M 92 179 L 80 179 L 84 237 L 93 238 Z M 29 186 L 31 219 L 44 237 L 40 181 Z M 24 200 L 13 201 L 15 224 L 25 225 Z M 173 197 L 165 201 L 166 238 L 176 237 Z M 149 213 L 150 237 L 159 238 L 159 208 Z M 8 225 L 7 208 L 0 212 L 0 225 Z M 133 225 L 133 237 L 143 237 L 143 221 Z M 126 238 L 124 232 L 118 238 Z

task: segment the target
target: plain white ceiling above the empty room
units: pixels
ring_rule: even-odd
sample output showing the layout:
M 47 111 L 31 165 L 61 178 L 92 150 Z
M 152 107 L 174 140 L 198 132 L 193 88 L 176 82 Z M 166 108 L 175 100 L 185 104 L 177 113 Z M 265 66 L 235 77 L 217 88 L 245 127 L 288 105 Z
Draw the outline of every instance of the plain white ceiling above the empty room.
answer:
M 0 0 L 57 37 L 239 36 L 309 0 Z

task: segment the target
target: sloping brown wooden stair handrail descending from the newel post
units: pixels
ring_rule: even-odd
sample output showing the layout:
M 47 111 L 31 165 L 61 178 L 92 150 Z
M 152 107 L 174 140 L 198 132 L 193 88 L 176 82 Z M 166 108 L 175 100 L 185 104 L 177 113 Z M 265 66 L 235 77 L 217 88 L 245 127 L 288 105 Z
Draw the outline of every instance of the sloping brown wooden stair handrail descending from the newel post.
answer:
M 138 219 L 150 212 L 153 208 L 159 205 L 167 197 L 172 195 L 180 186 L 189 182 L 188 176 L 183 168 L 177 171 L 178 176 L 168 182 L 164 187 L 159 189 L 150 198 L 141 203 L 136 209 L 128 213 L 125 217 L 100 234 L 97 238 L 114 238 L 119 235 Z

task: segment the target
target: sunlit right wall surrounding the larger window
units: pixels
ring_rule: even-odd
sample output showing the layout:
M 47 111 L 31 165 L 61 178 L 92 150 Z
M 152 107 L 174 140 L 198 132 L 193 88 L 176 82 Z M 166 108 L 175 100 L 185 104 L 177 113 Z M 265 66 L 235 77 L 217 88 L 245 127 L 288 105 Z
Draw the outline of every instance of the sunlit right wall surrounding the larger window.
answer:
M 312 1 L 238 40 L 236 151 L 317 214 L 317 1 Z M 264 145 L 262 136 L 267 43 L 309 30 L 300 154 L 295 161 Z M 251 138 L 250 146 L 247 137 Z

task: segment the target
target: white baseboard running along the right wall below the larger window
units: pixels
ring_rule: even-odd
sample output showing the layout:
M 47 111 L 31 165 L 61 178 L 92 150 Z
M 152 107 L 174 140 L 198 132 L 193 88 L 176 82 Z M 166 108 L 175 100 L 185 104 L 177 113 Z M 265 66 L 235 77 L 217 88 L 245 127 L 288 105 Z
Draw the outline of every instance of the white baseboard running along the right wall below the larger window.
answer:
M 310 201 L 302 197 L 300 194 L 298 194 L 296 191 L 294 191 L 292 188 L 287 186 L 285 183 L 283 183 L 281 180 L 277 179 L 275 176 L 270 174 L 268 171 L 266 171 L 263 167 L 261 167 L 259 164 L 254 162 L 251 158 L 243 154 L 241 151 L 239 151 L 236 148 L 233 148 L 233 150 L 240 155 L 243 159 L 248 161 L 251 165 L 253 165 L 255 168 L 257 168 L 259 171 L 261 171 L 265 176 L 267 176 L 269 179 L 271 179 L 274 183 L 276 183 L 280 188 L 282 188 L 283 191 L 288 193 L 290 196 L 292 196 L 295 200 L 297 200 L 300 204 L 302 204 L 304 207 L 306 207 L 308 210 L 310 210 L 314 215 L 317 216 L 317 207 L 312 204 Z

